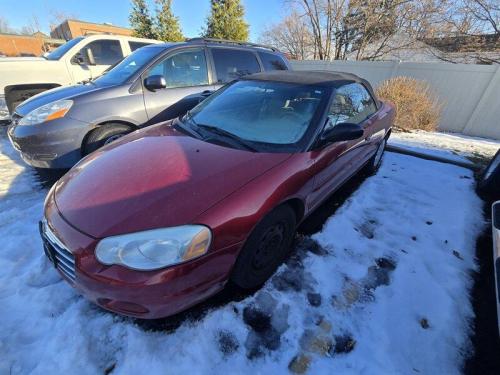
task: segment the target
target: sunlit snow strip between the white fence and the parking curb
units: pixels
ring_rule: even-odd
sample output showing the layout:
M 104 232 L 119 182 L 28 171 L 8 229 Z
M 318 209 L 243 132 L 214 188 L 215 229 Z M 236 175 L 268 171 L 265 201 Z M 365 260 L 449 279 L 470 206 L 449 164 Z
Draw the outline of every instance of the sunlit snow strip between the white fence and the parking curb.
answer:
M 389 139 L 389 144 L 458 161 L 488 160 L 500 149 L 500 141 L 492 139 L 420 130 L 410 133 L 394 132 Z

